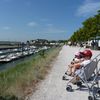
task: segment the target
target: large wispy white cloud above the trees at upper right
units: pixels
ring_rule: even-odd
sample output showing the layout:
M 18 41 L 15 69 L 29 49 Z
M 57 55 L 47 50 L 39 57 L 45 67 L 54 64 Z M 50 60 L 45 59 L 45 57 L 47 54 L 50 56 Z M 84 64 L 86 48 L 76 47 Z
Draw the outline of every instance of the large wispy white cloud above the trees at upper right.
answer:
M 100 1 L 94 0 L 85 0 L 83 5 L 81 5 L 77 10 L 78 16 L 87 16 L 97 13 L 97 10 L 100 9 Z

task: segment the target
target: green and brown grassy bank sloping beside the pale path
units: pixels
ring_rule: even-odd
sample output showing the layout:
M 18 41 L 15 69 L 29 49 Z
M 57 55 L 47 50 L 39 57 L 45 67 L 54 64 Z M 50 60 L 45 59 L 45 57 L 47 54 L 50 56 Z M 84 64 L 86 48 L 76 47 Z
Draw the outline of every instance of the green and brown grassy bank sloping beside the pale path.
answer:
M 40 52 L 32 60 L 0 72 L 0 100 L 23 100 L 35 90 L 36 84 L 45 78 L 50 63 L 61 48 Z

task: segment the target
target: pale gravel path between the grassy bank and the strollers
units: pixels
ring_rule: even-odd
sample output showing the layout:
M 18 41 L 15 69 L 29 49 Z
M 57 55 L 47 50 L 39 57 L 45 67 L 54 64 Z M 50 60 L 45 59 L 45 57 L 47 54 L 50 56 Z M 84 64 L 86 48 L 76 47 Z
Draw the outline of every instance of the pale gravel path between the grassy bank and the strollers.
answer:
M 67 92 L 66 81 L 62 80 L 67 65 L 79 49 L 78 47 L 63 46 L 51 72 L 41 82 L 38 90 L 33 93 L 30 100 L 88 100 L 87 91 L 75 90 L 74 92 Z M 93 51 L 94 57 L 99 53 L 100 51 Z M 73 86 L 73 88 L 76 87 Z

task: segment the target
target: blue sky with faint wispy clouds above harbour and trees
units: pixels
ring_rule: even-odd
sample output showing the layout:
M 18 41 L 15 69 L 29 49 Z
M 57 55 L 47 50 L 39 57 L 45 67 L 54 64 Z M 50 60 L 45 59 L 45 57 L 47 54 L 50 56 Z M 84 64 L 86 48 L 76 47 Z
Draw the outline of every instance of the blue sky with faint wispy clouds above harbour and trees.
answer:
M 100 0 L 0 0 L 0 40 L 68 39 Z

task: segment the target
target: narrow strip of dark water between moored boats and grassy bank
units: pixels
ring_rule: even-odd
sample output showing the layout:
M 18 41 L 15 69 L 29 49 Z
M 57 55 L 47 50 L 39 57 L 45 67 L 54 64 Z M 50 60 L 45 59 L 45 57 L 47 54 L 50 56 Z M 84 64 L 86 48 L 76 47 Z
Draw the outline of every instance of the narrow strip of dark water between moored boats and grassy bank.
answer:
M 24 58 L 20 58 L 20 59 L 17 59 L 17 60 L 8 62 L 8 63 L 0 64 L 0 71 L 4 71 L 4 70 L 7 70 L 8 68 L 15 67 L 17 64 L 20 64 L 22 62 L 32 60 L 36 55 L 37 54 L 32 54 L 32 55 L 26 56 Z

